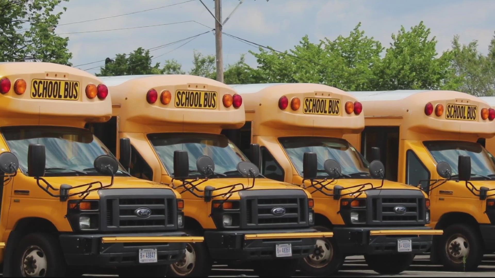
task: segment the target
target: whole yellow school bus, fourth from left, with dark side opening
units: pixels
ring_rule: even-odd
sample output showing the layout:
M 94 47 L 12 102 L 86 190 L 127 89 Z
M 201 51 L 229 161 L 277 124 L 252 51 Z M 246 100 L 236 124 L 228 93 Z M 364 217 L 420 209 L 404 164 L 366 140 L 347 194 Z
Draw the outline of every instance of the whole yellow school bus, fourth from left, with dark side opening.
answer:
M 361 153 L 380 147 L 398 182 L 429 194 L 431 259 L 475 269 L 495 251 L 495 164 L 480 141 L 495 133 L 495 110 L 453 91 L 351 92 L 366 107 L 365 129 L 349 137 Z

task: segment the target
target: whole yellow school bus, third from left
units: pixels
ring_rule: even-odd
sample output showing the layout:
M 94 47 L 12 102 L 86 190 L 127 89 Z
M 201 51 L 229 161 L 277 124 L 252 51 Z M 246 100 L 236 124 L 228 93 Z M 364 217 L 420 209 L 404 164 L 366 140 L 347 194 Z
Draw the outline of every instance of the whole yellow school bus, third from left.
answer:
M 353 254 L 364 255 L 376 272 L 397 274 L 442 232 L 425 226 L 429 200 L 421 190 L 375 175 L 380 162 L 368 164 L 343 139 L 364 128 L 367 107 L 354 97 L 318 84 L 232 87 L 245 101 L 246 125 L 226 133 L 241 147 L 258 143 L 261 173 L 307 188 L 315 200 L 315 229 L 334 232 L 333 238 L 318 239 L 303 260 L 307 275 L 329 276 Z M 312 177 L 305 164 L 317 165 Z M 330 166 L 338 175 L 328 173 Z

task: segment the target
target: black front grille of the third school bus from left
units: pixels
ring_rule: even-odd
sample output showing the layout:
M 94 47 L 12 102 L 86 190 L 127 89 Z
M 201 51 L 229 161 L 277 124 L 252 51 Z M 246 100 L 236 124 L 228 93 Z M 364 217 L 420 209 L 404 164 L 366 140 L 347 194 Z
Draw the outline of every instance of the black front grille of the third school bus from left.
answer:
M 371 202 L 371 221 L 373 224 L 384 225 L 417 225 L 424 223 L 424 206 L 425 199 L 418 197 L 389 197 L 377 196 L 372 197 Z M 396 208 L 402 206 L 406 209 L 403 214 L 397 213 Z

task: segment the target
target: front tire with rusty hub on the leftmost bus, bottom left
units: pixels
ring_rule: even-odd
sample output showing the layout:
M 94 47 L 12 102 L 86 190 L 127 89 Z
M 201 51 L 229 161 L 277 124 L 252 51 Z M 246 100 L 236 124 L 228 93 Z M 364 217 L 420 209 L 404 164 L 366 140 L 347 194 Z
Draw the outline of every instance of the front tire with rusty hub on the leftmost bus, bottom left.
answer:
M 14 277 L 65 277 L 65 260 L 58 239 L 50 233 L 25 235 L 14 251 Z

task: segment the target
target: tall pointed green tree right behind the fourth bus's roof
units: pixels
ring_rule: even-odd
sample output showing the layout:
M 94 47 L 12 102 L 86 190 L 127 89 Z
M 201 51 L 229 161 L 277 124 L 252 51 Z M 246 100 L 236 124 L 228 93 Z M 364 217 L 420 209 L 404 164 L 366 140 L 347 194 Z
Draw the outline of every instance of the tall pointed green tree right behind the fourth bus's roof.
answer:
M 406 31 L 402 26 L 375 71 L 377 90 L 456 89 L 450 51 L 440 57 L 437 40 L 423 22 Z

